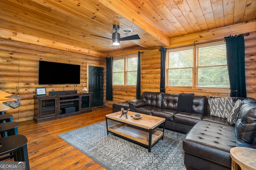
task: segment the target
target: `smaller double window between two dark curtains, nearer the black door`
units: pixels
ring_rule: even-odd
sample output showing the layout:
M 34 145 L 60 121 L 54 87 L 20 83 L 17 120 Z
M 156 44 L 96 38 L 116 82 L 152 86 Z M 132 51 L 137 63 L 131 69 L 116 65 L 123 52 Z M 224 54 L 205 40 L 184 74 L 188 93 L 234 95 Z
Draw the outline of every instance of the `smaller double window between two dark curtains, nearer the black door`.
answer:
M 138 57 L 113 59 L 113 85 L 136 85 Z

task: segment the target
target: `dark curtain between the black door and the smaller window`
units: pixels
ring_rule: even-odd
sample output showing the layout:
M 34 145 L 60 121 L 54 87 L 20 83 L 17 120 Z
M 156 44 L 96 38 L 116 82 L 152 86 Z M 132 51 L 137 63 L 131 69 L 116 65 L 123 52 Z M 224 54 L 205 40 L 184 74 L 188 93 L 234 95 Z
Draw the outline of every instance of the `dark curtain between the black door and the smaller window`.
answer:
M 106 100 L 113 100 L 112 65 L 113 57 L 106 57 Z

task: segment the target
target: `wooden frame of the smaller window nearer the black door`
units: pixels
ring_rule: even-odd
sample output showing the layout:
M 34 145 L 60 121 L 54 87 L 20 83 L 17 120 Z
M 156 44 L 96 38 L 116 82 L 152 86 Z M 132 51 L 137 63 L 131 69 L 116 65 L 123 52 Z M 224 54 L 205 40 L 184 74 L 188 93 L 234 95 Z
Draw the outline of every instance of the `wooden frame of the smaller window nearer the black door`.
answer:
M 112 86 L 135 86 L 136 87 L 136 84 L 128 84 L 128 72 L 134 72 L 135 70 L 129 70 L 128 71 L 128 62 L 127 60 L 129 58 L 136 58 L 137 59 L 137 62 L 138 62 L 138 55 L 134 54 L 134 55 L 128 55 L 128 56 L 122 56 L 122 57 L 114 57 L 113 58 L 113 68 L 112 68 Z M 124 59 L 124 84 L 114 84 L 114 61 L 116 60 L 120 60 L 120 59 Z M 137 63 L 138 64 L 138 63 Z M 136 68 L 136 72 L 137 72 L 137 68 Z

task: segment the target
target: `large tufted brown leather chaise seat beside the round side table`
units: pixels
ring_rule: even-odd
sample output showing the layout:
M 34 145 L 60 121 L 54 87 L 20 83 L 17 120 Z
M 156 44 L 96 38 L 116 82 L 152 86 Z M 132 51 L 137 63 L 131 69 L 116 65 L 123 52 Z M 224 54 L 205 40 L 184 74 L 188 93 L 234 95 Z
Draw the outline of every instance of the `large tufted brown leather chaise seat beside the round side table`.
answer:
M 228 167 L 232 147 L 256 148 L 240 141 L 234 127 L 208 121 L 198 122 L 183 139 L 184 152 Z

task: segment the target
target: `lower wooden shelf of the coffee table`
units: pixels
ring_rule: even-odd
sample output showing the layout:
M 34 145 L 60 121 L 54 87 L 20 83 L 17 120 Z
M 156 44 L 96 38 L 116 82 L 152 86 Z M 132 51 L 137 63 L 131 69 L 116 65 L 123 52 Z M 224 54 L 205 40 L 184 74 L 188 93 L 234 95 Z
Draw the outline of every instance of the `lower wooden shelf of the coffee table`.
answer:
M 150 132 L 144 129 L 138 129 L 136 127 L 119 123 L 112 127 L 108 127 L 108 131 L 114 133 L 119 137 L 134 141 L 136 143 L 140 143 L 145 147 L 148 147 L 148 148 L 150 147 L 149 150 L 151 150 L 151 147 L 157 141 L 159 141 L 164 135 L 164 132 L 152 130 L 152 140 L 151 140 L 152 142 L 150 145 L 149 143 Z

